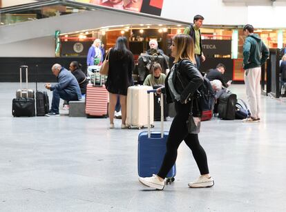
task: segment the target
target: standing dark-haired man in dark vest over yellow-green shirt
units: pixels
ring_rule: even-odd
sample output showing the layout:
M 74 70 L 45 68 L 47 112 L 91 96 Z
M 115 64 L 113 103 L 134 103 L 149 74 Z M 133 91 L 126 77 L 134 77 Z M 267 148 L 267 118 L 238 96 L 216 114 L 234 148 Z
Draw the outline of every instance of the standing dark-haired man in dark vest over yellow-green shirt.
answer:
M 202 22 L 204 17 L 201 15 L 196 15 L 193 17 L 193 24 L 184 29 L 184 34 L 190 35 L 193 38 L 193 44 L 195 44 L 195 56 L 197 68 L 200 68 L 200 59 L 202 62 L 206 59 L 202 53 L 202 38 L 200 35 L 200 28 L 202 27 Z

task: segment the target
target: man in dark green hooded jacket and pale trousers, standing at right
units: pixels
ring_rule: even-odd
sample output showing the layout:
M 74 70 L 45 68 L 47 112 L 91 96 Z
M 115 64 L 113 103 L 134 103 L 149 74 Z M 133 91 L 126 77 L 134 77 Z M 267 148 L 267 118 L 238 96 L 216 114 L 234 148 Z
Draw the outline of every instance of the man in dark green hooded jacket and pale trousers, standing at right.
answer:
M 260 77 L 261 66 L 269 57 L 269 49 L 250 24 L 243 28 L 247 36 L 243 45 L 243 69 L 245 69 L 245 86 L 250 106 L 251 117 L 242 122 L 260 122 Z

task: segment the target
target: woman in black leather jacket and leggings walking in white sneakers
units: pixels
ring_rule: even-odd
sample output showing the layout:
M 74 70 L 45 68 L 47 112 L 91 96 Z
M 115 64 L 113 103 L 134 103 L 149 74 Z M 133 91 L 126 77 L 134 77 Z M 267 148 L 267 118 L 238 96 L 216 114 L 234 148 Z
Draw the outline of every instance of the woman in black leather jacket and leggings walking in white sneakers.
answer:
M 184 140 L 191 149 L 200 170 L 200 177 L 194 182 L 189 182 L 189 187 L 211 187 L 214 182 L 209 174 L 207 155 L 204 148 L 200 146 L 198 134 L 189 133 L 187 126 L 190 112 L 193 113 L 193 117 L 200 117 L 202 114 L 200 106 L 198 106 L 197 90 L 203 83 L 203 77 L 194 65 L 196 59 L 193 39 L 189 35 L 175 35 L 171 51 L 172 56 L 175 57 L 175 64 L 166 77 L 165 87 L 158 88 L 158 93 L 166 91 L 167 102 L 175 102 L 177 115 L 171 124 L 166 142 L 166 154 L 160 171 L 157 175 L 140 177 L 139 180 L 145 186 L 159 190 L 164 189 L 164 178 L 175 164 L 178 147 Z

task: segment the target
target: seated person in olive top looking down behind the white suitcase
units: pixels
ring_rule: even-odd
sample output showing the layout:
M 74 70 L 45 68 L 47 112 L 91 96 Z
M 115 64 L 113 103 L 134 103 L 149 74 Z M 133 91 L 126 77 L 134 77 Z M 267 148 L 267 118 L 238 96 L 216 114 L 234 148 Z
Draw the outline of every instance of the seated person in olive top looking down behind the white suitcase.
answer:
M 166 75 L 162 73 L 162 67 L 159 63 L 154 63 L 152 68 L 152 73 L 146 77 L 144 80 L 144 86 L 155 86 L 155 85 L 164 85 Z

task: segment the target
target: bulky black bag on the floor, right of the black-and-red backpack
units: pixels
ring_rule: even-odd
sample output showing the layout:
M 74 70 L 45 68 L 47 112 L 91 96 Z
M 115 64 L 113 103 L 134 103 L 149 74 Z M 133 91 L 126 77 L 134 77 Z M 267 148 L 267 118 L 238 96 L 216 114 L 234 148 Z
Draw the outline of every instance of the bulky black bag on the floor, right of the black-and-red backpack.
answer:
M 222 93 L 219 98 L 218 117 L 233 120 L 236 118 L 236 94 Z

